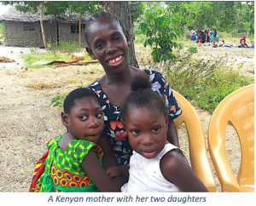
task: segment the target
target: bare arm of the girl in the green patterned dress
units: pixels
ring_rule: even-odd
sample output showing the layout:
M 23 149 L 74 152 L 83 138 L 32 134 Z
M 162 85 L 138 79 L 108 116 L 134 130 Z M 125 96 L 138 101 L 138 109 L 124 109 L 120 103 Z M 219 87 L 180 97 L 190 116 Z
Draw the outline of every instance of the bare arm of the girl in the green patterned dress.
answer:
M 121 186 L 128 181 L 124 176 L 111 178 L 99 163 L 96 153 L 90 150 L 81 163 L 90 180 L 94 182 L 101 192 L 120 192 Z

